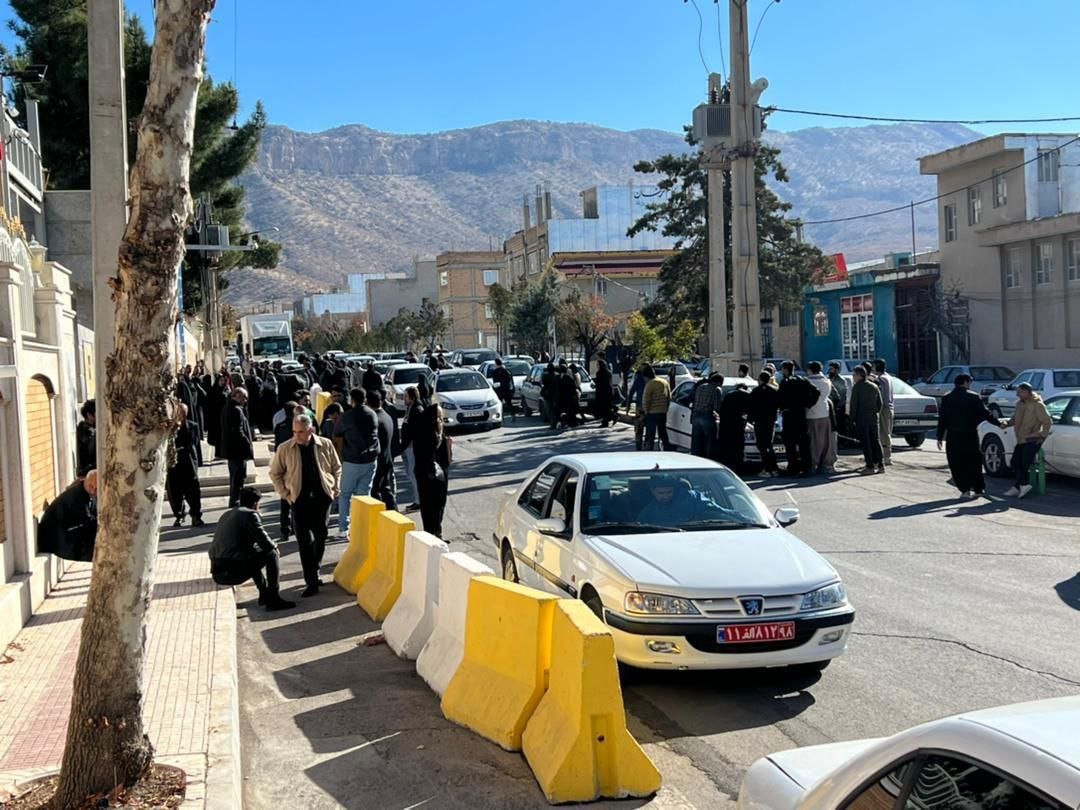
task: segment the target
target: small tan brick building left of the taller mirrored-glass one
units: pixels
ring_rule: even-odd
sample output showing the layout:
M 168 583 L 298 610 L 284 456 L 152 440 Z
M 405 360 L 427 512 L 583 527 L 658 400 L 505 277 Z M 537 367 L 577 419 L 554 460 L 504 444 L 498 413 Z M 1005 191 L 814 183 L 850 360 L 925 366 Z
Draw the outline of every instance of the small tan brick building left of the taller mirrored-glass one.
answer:
M 454 349 L 497 349 L 499 334 L 487 302 L 488 288 L 505 283 L 501 251 L 447 251 L 435 257 L 437 302 L 453 320 L 443 346 Z

